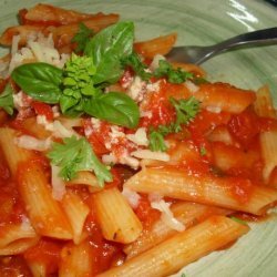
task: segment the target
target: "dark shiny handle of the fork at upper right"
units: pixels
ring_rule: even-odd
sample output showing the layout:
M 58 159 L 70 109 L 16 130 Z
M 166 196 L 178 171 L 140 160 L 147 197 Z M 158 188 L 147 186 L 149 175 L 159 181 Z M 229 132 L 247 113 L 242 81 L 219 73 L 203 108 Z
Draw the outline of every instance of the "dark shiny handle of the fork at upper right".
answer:
M 217 53 L 230 50 L 238 45 L 267 45 L 277 43 L 277 28 L 268 28 L 254 32 L 243 33 L 216 44 Z

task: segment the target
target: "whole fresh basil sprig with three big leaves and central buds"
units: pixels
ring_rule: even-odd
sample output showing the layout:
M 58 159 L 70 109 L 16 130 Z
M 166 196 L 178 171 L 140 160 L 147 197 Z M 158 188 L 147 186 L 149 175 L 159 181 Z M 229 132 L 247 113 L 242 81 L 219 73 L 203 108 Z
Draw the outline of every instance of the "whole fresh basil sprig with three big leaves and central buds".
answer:
M 138 124 L 138 107 L 126 94 L 104 93 L 123 73 L 122 59 L 133 52 L 134 25 L 120 22 L 85 43 L 84 57 L 72 54 L 63 70 L 48 63 L 29 63 L 11 78 L 37 101 L 57 104 L 65 115 L 88 113 L 125 127 Z

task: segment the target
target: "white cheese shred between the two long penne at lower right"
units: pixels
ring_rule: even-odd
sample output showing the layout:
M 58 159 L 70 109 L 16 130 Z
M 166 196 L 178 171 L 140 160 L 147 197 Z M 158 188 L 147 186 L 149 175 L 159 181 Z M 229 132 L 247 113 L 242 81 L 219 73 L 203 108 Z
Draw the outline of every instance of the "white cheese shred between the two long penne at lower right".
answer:
M 151 202 L 151 207 L 158 209 L 162 213 L 161 219 L 164 224 L 177 232 L 185 230 L 184 224 L 174 217 L 172 211 L 170 209 L 170 206 L 171 203 L 166 203 L 164 199 L 161 199 L 158 202 Z

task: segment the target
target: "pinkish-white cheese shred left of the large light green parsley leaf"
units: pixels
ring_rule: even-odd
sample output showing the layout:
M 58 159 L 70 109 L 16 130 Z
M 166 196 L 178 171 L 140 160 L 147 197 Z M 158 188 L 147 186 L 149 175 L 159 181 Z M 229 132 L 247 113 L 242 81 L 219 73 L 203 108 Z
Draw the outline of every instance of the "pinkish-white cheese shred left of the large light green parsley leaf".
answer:
M 38 140 L 30 135 L 21 135 L 14 138 L 14 143 L 25 150 L 34 150 L 34 151 L 47 151 L 50 148 L 52 141 L 51 137 L 47 140 Z

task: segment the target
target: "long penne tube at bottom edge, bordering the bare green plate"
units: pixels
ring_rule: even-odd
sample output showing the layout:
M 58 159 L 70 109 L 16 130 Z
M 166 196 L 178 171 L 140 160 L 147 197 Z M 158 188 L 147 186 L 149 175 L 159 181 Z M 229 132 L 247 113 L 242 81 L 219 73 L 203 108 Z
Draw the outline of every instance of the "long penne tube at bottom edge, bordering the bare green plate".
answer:
M 123 266 L 111 268 L 98 277 L 168 276 L 183 266 L 236 240 L 248 230 L 248 226 L 227 217 L 213 216 L 127 260 Z

